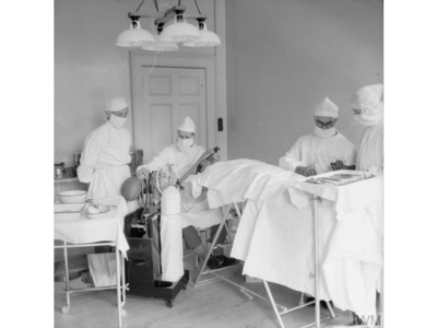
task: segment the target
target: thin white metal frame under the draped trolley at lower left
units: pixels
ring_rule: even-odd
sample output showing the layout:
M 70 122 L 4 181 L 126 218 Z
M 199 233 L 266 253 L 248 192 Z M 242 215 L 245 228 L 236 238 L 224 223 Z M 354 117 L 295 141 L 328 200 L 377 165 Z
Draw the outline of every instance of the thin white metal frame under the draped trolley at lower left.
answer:
M 68 266 L 68 251 L 67 248 L 73 247 L 88 247 L 88 246 L 115 246 L 116 247 L 116 263 L 117 263 L 117 285 L 115 286 L 102 286 L 102 288 L 91 288 L 91 289 L 71 289 L 70 288 L 70 274 L 69 274 L 69 266 Z M 122 326 L 121 320 L 121 306 L 126 303 L 126 279 L 125 279 L 125 261 L 120 256 L 118 245 L 116 242 L 105 242 L 105 243 L 86 243 L 86 244 L 74 244 L 67 245 L 67 242 L 63 241 L 63 246 L 54 246 L 54 248 L 63 248 L 63 260 L 66 263 L 66 294 L 67 294 L 67 305 L 62 306 L 61 312 L 67 313 L 70 308 L 70 293 L 76 292 L 88 292 L 88 291 L 103 291 L 103 290 L 117 290 L 117 312 L 118 312 L 118 327 L 126 328 L 127 326 Z M 121 262 L 121 273 L 120 273 L 120 262 Z M 121 280 L 121 285 L 120 285 Z M 120 292 L 121 288 L 121 292 Z

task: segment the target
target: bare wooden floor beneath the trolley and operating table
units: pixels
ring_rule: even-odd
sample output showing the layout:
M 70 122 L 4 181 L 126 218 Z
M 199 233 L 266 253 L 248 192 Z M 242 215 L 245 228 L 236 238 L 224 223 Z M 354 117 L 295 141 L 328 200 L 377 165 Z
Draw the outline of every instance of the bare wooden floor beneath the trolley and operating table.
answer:
M 193 258 L 185 260 L 194 277 Z M 244 276 L 232 274 L 227 279 L 243 284 L 269 298 L 262 282 L 246 283 Z M 84 285 L 81 279 L 71 282 L 73 288 Z M 117 301 L 115 290 L 87 291 L 70 295 L 70 308 L 62 314 L 66 294 L 63 282 L 54 282 L 54 328 L 117 328 Z M 285 286 L 269 283 L 276 304 L 288 308 L 298 305 L 300 293 Z M 334 308 L 338 316 L 321 327 L 347 326 L 350 312 Z M 321 308 L 321 318 L 329 312 Z M 285 328 L 297 328 L 315 320 L 315 307 L 305 307 L 282 316 Z M 122 325 L 129 328 L 280 328 L 270 302 L 253 297 L 249 300 L 240 290 L 223 280 L 216 280 L 181 290 L 173 308 L 164 300 L 128 295 L 122 307 Z

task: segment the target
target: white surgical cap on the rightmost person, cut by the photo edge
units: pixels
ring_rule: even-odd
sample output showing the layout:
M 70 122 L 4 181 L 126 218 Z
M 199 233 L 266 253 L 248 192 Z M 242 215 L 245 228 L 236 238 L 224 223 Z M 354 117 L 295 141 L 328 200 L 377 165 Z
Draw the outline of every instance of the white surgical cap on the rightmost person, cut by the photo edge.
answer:
M 380 101 L 382 91 L 381 83 L 358 89 L 351 98 L 351 107 L 374 114 L 383 110 L 383 103 Z

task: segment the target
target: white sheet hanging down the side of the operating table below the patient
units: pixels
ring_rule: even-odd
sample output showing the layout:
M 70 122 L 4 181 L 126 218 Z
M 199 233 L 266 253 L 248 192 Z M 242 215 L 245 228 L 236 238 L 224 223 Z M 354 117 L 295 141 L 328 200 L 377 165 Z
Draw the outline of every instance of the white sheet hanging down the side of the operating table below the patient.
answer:
M 335 225 L 332 206 L 326 201 L 319 208 L 319 268 Z M 244 274 L 315 295 L 314 237 L 312 203 L 298 210 L 286 197 L 281 201 L 249 200 L 231 256 L 245 261 Z M 319 274 L 320 298 L 331 300 L 321 269 Z

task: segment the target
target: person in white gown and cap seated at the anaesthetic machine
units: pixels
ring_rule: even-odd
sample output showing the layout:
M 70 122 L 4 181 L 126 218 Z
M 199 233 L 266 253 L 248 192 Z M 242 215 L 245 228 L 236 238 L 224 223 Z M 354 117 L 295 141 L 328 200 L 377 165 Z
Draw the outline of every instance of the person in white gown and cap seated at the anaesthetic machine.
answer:
M 137 177 L 139 179 L 147 178 L 149 173 L 154 171 L 167 171 L 168 164 L 173 164 L 173 171 L 179 177 L 182 177 L 201 157 L 205 150 L 198 144 L 194 144 L 196 126 L 191 118 L 186 117 L 185 121 L 177 128 L 176 143 L 164 148 L 157 156 L 145 165 L 137 168 Z M 206 191 L 203 190 L 199 197 L 193 196 L 190 188 L 190 179 L 194 176 L 188 177 L 182 183 L 184 191 L 181 192 L 181 226 L 185 243 L 188 249 L 194 249 L 201 258 L 205 258 L 208 250 L 202 245 L 201 238 L 197 229 L 211 227 L 212 242 L 215 231 L 222 221 L 222 211 L 220 209 L 210 209 L 206 199 Z M 217 244 L 223 244 L 226 238 L 226 230 L 223 227 Z M 215 256 L 214 256 L 215 255 Z M 214 250 L 208 260 L 210 269 L 217 269 L 221 267 L 229 266 L 235 262 L 235 259 L 228 258 L 223 255 L 223 249 L 217 248 Z

